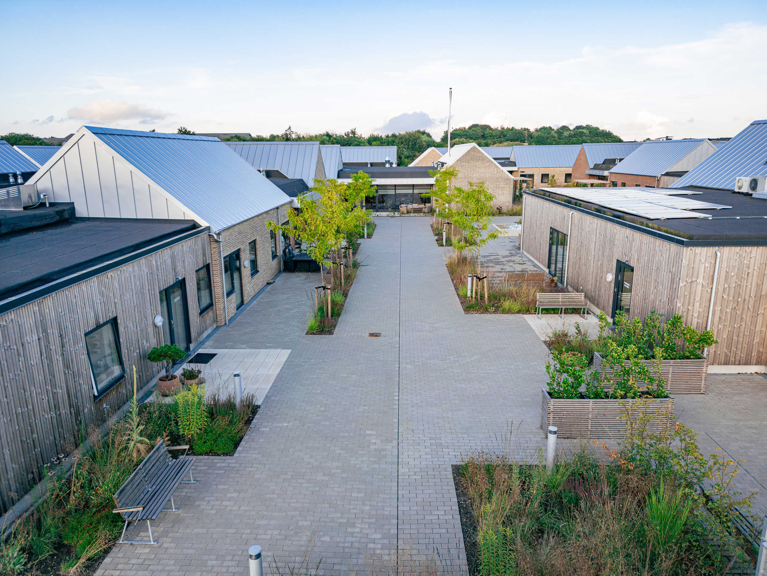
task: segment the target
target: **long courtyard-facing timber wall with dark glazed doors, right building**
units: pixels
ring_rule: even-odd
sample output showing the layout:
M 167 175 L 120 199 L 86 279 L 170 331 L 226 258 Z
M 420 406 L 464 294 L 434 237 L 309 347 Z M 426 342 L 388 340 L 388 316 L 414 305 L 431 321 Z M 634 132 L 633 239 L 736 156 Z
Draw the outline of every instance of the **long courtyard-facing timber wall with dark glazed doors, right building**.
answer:
M 543 266 L 548 262 L 549 227 L 568 233 L 570 210 L 532 196 L 525 196 L 522 249 Z M 574 212 L 568 237 L 567 280 L 575 292 L 607 316 L 613 310 L 617 260 L 634 266 L 631 294 L 632 318 L 644 318 L 655 310 L 673 314 L 682 271 L 682 247 L 617 226 L 599 218 Z

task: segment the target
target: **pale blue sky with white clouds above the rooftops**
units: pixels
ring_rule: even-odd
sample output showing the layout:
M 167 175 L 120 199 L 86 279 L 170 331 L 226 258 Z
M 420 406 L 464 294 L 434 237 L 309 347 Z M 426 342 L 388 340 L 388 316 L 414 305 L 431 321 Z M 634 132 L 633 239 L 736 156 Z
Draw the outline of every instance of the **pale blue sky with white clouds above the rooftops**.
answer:
M 624 140 L 767 118 L 761 2 L 0 0 L 0 134 L 82 125 L 362 134 L 594 124 Z

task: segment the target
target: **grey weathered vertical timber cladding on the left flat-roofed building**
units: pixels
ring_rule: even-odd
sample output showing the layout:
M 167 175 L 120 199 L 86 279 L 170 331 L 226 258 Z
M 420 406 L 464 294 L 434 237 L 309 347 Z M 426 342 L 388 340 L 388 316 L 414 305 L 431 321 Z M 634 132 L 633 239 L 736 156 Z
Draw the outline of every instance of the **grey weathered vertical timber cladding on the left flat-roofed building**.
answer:
M 82 434 L 130 399 L 132 366 L 139 387 L 161 371 L 146 359 L 163 344 L 163 331 L 153 324 L 160 290 L 186 278 L 193 341 L 213 326 L 212 308 L 199 315 L 195 280 L 195 270 L 209 261 L 202 234 L 0 316 L 2 512 L 41 480 L 46 463 L 71 452 Z M 94 401 L 84 335 L 115 316 L 129 377 Z

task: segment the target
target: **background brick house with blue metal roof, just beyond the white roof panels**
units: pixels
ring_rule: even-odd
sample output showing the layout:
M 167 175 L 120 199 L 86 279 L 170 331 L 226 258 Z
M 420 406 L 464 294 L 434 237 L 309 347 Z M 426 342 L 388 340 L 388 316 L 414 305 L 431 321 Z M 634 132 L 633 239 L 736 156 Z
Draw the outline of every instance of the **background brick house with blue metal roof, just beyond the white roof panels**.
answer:
M 716 152 L 706 138 L 643 142 L 609 170 L 612 186 L 666 188 Z

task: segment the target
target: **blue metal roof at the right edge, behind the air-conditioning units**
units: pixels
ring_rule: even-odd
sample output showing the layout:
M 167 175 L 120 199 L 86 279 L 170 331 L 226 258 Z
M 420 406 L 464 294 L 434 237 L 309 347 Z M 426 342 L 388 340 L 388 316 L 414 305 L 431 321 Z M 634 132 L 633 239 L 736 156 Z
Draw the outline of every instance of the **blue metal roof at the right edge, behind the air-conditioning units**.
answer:
M 756 120 L 671 184 L 735 190 L 738 176 L 767 176 L 767 120 Z

